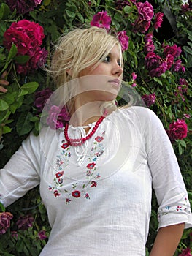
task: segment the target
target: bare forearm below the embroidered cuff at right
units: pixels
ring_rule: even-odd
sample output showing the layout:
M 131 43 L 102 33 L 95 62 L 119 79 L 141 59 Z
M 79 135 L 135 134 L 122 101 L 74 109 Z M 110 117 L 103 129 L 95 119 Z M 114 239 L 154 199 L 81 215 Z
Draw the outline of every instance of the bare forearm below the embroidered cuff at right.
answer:
M 173 256 L 183 234 L 184 223 L 161 227 L 150 256 Z

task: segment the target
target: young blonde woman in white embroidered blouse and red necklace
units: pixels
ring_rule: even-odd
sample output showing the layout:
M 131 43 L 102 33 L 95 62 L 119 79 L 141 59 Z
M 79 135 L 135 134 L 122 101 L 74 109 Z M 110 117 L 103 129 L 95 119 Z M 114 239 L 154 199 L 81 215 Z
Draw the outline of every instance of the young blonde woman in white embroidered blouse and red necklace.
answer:
M 171 256 L 192 226 L 172 144 L 153 111 L 117 108 L 123 77 L 118 39 L 104 29 L 75 29 L 58 43 L 50 69 L 58 89 L 50 102 L 71 119 L 30 135 L 0 172 L 9 206 L 39 184 L 52 227 L 41 256 L 143 256 L 152 187 L 158 235 L 150 256 Z

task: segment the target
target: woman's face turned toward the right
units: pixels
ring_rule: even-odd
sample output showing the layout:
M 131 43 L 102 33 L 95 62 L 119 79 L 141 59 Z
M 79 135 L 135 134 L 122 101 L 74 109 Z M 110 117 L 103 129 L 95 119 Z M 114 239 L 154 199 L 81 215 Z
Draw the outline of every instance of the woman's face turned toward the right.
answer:
M 115 45 L 108 56 L 95 68 L 80 72 L 82 91 L 80 97 L 88 101 L 111 101 L 118 95 L 123 68 L 120 67 L 120 52 Z M 85 78 L 83 78 L 85 77 Z M 85 81 L 85 83 L 83 83 Z

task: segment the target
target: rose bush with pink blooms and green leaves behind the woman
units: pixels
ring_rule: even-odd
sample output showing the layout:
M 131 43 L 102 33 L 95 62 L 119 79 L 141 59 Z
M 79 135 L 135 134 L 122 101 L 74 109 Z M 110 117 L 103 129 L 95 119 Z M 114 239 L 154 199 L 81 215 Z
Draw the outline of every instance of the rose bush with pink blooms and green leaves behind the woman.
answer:
M 65 110 L 62 112 L 59 106 L 47 101 L 55 88 L 51 78 L 39 68 L 50 64 L 47 53 L 52 45 L 61 34 L 74 27 L 100 26 L 115 33 L 121 42 L 126 89 L 134 89 L 163 122 L 192 203 L 191 1 L 183 4 L 181 0 L 0 0 L 0 4 L 0 75 L 7 70 L 10 82 L 7 93 L 0 93 L 0 150 L 4 156 L 0 158 L 1 167 L 29 132 L 38 135 L 43 108 L 47 111 L 45 123 L 47 120 L 53 129 L 62 127 L 69 118 Z M 127 103 L 124 99 L 126 90 L 118 97 L 118 105 Z M 93 167 L 93 163 L 88 165 L 88 171 Z M 74 190 L 74 197 L 78 196 Z M 146 255 L 158 226 L 155 214 L 158 205 L 154 197 L 152 206 Z M 0 254 L 39 255 L 50 233 L 39 189 L 32 189 L 7 209 L 1 207 L 1 211 L 10 212 L 14 217 L 9 219 L 10 227 L 9 222 L 1 225 L 2 230 L 6 227 L 6 232 L 0 236 Z M 34 222 L 27 222 L 27 229 L 16 225 L 18 220 L 24 225 L 32 217 Z M 190 253 L 190 234 L 191 230 L 185 230 L 174 256 Z

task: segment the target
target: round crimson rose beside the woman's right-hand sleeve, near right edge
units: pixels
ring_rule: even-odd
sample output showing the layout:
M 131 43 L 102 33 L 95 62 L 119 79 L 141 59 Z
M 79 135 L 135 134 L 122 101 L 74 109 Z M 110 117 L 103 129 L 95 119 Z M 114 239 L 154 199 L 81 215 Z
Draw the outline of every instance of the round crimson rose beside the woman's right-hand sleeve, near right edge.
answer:
M 167 131 L 169 138 L 172 142 L 175 140 L 182 140 L 188 135 L 188 126 L 185 120 L 177 119 L 177 121 L 169 124 L 169 130 Z

